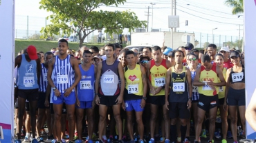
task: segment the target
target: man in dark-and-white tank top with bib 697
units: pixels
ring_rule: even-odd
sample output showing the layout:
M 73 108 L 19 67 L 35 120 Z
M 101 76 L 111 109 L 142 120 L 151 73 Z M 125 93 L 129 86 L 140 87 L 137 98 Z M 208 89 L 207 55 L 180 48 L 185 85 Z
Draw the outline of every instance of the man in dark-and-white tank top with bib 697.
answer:
M 118 142 L 122 142 L 122 120 L 120 118 L 120 104 L 123 100 L 125 89 L 125 79 L 122 71 L 122 65 L 113 57 L 114 45 L 107 44 L 104 47 L 107 60 L 99 63 L 97 67 L 97 76 L 95 80 L 95 102 L 99 105 L 99 142 L 102 141 L 107 109 L 112 107 L 113 115 L 118 128 Z M 101 78 L 100 78 L 101 76 Z M 121 81 L 121 88 L 118 80 Z

